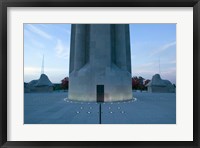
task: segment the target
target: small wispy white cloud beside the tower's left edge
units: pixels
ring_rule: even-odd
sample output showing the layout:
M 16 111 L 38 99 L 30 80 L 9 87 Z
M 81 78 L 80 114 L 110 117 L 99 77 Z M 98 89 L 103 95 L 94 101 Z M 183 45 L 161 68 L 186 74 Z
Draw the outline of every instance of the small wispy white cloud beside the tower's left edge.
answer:
M 69 59 L 69 48 L 67 48 L 60 39 L 57 40 L 55 50 L 57 57 Z

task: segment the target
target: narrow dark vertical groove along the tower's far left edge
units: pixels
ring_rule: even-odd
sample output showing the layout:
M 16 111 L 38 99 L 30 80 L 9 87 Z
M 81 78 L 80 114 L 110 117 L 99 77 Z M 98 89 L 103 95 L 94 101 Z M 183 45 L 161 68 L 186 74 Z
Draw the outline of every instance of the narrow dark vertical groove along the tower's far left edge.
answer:
M 69 65 L 69 73 L 74 70 L 74 53 L 75 53 L 75 25 L 71 25 L 71 39 L 70 39 L 70 65 Z

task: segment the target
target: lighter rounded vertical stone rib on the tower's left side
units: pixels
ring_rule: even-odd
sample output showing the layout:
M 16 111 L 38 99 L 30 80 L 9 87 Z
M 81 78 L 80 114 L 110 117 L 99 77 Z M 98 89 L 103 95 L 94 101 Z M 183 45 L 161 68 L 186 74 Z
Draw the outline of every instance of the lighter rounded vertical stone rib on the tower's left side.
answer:
M 75 31 L 75 70 L 80 70 L 85 65 L 85 25 L 76 24 Z

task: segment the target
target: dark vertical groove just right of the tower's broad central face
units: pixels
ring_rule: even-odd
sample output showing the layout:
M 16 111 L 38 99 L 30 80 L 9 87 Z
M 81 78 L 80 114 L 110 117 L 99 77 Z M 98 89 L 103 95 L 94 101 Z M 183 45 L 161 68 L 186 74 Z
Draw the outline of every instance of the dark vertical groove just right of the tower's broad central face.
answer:
M 116 52 L 115 52 L 115 26 L 116 25 L 111 25 L 110 28 L 110 34 L 111 34 L 111 63 L 116 64 Z

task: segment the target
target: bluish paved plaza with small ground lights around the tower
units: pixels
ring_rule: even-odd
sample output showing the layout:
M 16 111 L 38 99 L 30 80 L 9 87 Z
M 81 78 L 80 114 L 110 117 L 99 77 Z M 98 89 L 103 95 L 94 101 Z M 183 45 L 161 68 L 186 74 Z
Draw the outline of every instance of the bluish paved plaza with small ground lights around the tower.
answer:
M 176 94 L 133 92 L 123 102 L 71 101 L 67 92 L 25 93 L 25 124 L 176 124 Z M 100 121 L 101 120 L 101 121 Z

